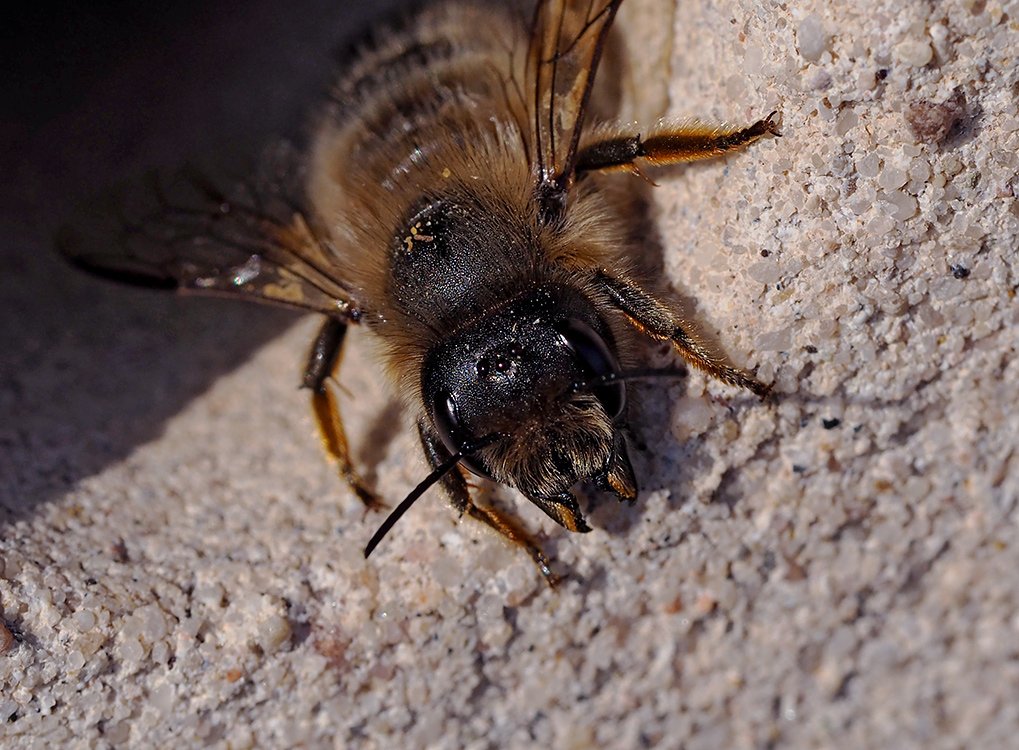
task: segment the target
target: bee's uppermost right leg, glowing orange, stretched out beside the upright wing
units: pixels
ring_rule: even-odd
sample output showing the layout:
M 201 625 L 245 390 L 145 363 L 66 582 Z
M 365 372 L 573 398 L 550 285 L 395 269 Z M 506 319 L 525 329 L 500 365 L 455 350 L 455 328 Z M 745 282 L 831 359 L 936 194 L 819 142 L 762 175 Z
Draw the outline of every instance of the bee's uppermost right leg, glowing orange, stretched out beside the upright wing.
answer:
M 614 136 L 588 144 L 577 155 L 577 171 L 639 171 L 642 164 L 667 166 L 713 159 L 746 148 L 765 136 L 781 136 L 772 112 L 747 127 L 706 125 L 694 122 L 671 128 L 655 128 L 640 136 Z

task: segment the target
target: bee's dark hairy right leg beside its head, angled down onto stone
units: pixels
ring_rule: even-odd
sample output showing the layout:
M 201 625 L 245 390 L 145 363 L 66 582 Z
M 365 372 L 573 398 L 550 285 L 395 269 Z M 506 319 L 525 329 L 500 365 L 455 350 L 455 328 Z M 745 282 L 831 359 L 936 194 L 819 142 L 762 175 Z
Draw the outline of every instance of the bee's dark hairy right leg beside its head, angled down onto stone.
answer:
M 635 327 L 651 338 L 672 342 L 692 366 L 723 383 L 746 388 L 761 398 L 767 396 L 770 386 L 708 351 L 686 330 L 683 321 L 673 311 L 630 279 L 600 271 L 595 276 L 595 284 Z

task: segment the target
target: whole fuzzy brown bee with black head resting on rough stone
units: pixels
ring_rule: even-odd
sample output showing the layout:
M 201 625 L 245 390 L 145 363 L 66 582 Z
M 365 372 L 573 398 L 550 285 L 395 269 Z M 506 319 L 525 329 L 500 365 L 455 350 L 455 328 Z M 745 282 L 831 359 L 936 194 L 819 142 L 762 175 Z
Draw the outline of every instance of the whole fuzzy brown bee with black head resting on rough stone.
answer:
M 641 339 L 768 392 L 650 290 L 630 261 L 627 217 L 591 175 L 741 150 L 780 135 L 775 113 L 742 127 L 641 132 L 590 121 L 622 1 L 427 8 L 356 56 L 305 149 L 278 149 L 259 176 L 225 191 L 195 174 L 157 179 L 133 192 L 143 206 L 120 208 L 115 235 L 74 229 L 60 245 L 116 280 L 322 315 L 304 385 L 326 451 L 375 505 L 330 387 L 347 330 L 367 328 L 416 415 L 431 472 L 365 555 L 439 484 L 461 515 L 525 547 L 551 583 L 520 526 L 474 501 L 472 475 L 587 532 L 578 485 L 637 498 L 627 383 L 660 374 L 636 366 Z

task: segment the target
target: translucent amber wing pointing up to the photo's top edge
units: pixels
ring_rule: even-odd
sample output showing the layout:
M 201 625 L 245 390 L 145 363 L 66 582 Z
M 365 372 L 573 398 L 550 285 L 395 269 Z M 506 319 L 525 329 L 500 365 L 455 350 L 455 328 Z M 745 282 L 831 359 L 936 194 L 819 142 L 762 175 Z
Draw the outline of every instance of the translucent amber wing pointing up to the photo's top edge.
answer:
M 623 0 L 538 0 L 526 79 L 539 197 L 573 179 L 584 113 L 608 30 Z M 559 199 L 561 200 L 561 198 Z

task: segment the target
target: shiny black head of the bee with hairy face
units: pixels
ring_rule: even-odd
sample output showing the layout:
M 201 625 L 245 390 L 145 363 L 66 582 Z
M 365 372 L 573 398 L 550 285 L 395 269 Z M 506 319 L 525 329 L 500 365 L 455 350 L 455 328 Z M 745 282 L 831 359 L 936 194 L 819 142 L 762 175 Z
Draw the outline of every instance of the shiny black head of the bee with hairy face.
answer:
M 535 498 L 606 479 L 626 406 L 611 334 L 576 289 L 548 285 L 487 313 L 429 354 L 422 393 L 450 453 L 499 434 L 463 464 Z M 623 459 L 625 460 L 625 459 Z M 627 466 L 629 469 L 629 465 Z

